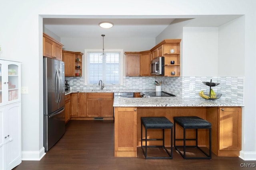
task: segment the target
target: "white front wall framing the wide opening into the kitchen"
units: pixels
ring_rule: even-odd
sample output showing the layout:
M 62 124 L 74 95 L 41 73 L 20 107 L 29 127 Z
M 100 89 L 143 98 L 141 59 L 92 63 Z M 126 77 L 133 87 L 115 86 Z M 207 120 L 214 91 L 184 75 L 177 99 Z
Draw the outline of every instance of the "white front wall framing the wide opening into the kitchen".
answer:
M 136 5 L 134 5 L 136 4 Z M 221 5 L 220 5 L 221 4 Z M 42 17 L 60 15 L 180 17 L 186 15 L 245 14 L 245 100 L 242 158 L 256 160 L 256 14 L 254 0 L 129 0 L 118 6 L 115 0 L 1 1 L 0 58 L 22 62 L 22 159 L 43 155 Z M 97 9 L 97 10 L 95 10 Z M 63 17 L 63 16 L 62 16 Z M 170 37 L 168 37 L 170 38 Z

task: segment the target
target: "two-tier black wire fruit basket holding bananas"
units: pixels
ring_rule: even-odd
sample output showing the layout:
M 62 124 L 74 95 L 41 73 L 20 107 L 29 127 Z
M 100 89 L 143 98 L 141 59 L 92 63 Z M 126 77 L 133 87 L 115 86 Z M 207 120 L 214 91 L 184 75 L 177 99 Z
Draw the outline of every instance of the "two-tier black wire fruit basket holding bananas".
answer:
M 219 99 L 222 94 L 221 93 L 216 93 L 214 92 L 214 90 L 212 89 L 212 87 L 214 86 L 218 86 L 220 83 L 214 83 L 212 82 L 203 82 L 206 86 L 210 86 L 210 92 L 204 92 L 204 90 L 199 92 L 199 95 L 204 98 L 205 100 L 216 100 Z

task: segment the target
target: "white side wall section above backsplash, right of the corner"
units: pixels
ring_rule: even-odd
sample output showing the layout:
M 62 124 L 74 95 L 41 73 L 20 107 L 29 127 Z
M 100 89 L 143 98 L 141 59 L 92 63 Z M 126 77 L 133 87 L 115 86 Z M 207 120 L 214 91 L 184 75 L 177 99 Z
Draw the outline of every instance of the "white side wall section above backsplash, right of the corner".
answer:
M 218 76 L 244 76 L 244 16 L 219 27 Z

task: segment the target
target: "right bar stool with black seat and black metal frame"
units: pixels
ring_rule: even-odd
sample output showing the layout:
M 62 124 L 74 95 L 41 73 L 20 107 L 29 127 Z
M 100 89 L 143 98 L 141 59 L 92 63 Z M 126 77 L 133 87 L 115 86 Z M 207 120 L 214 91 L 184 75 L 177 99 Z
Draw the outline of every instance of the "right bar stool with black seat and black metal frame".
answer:
M 197 116 L 180 116 L 180 117 L 173 117 L 174 119 L 174 147 L 184 159 L 211 159 L 212 158 L 212 124 L 200 117 Z M 183 128 L 183 139 L 176 139 L 176 123 Z M 196 129 L 196 138 L 194 139 L 186 139 L 186 129 Z M 204 152 L 200 147 L 198 147 L 198 129 L 209 129 L 209 154 Z M 186 141 L 196 141 L 196 145 L 186 145 Z M 183 145 L 177 146 L 176 141 L 183 141 Z M 183 148 L 183 154 L 178 149 Z M 199 149 L 202 153 L 206 156 L 204 157 L 197 157 L 197 156 L 186 156 L 186 148 L 187 147 L 194 147 Z

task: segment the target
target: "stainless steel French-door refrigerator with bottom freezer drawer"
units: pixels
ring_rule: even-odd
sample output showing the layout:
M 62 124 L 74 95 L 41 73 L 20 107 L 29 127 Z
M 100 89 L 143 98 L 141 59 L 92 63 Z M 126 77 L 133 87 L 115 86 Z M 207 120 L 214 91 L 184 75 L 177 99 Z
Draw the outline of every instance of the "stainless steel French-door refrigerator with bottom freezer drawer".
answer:
M 53 147 L 65 133 L 64 62 L 44 57 L 44 148 Z

